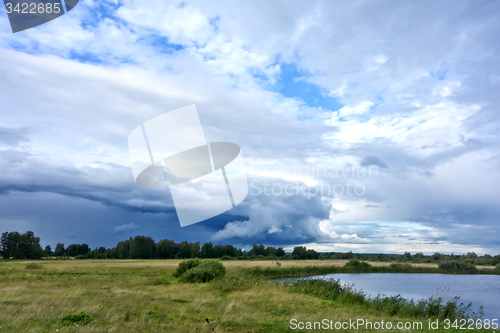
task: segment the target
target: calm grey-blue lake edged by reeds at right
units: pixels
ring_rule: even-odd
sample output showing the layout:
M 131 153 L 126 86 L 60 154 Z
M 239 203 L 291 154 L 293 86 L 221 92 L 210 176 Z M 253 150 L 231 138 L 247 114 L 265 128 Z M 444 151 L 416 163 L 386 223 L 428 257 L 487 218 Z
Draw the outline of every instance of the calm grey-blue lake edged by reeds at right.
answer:
M 355 289 L 364 291 L 370 297 L 376 297 L 379 293 L 386 296 L 400 294 L 406 299 L 414 300 L 431 296 L 450 300 L 460 296 L 459 303 L 472 303 L 473 311 L 477 311 L 482 305 L 484 319 L 500 320 L 499 275 L 360 273 L 286 280 L 331 278 L 354 285 Z

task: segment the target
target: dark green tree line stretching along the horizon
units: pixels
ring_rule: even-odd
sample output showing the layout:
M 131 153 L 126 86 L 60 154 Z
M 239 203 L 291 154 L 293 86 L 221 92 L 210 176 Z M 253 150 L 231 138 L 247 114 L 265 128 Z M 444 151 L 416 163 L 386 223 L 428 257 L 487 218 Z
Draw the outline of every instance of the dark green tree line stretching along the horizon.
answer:
M 113 248 L 99 247 L 91 249 L 87 244 L 57 243 L 54 251 L 50 245 L 42 249 L 40 238 L 35 237 L 33 231 L 20 234 L 17 231 L 4 232 L 0 238 L 0 255 L 4 259 L 41 259 L 43 257 L 74 257 L 76 259 L 189 259 L 189 258 L 218 258 L 231 259 L 281 259 L 281 260 L 309 260 L 309 259 L 344 259 L 363 261 L 387 262 L 414 262 L 414 263 L 442 263 L 447 261 L 462 261 L 474 265 L 500 264 L 500 255 L 485 254 L 478 256 L 474 252 L 464 255 L 441 254 L 424 255 L 409 252 L 404 254 L 360 254 L 349 252 L 320 253 L 305 246 L 294 247 L 292 253 L 285 253 L 283 247 L 264 246 L 254 244 L 248 251 L 238 249 L 233 245 L 204 243 L 190 243 L 183 241 L 176 243 L 173 240 L 163 239 L 155 242 L 147 236 L 130 237 L 119 242 Z

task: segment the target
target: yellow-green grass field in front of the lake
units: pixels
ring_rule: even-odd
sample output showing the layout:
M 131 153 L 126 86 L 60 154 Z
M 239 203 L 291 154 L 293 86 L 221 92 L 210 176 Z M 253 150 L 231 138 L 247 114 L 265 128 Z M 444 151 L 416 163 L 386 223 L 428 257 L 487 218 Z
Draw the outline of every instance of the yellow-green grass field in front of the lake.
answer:
M 245 274 L 244 267 L 276 267 L 274 261 L 224 262 L 226 276 L 205 284 L 179 283 L 172 275 L 177 260 L 33 263 L 0 262 L 0 332 L 212 332 L 205 318 L 218 333 L 301 331 L 290 329 L 292 318 L 421 321 L 423 329 L 403 331 L 450 331 L 429 330 L 427 319 L 384 316 Z M 342 266 L 345 261 L 281 264 Z

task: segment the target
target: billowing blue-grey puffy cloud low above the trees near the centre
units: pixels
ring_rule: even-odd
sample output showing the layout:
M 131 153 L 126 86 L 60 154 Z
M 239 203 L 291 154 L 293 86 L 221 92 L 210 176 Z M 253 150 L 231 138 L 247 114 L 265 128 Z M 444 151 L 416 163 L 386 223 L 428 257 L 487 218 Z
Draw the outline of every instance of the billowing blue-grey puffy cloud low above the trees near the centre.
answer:
M 255 176 L 249 179 L 249 183 L 252 188 L 249 196 L 234 209 L 244 212 L 249 219 L 229 222 L 214 234 L 215 241 L 294 245 L 324 240 L 319 221 L 328 219 L 329 201 L 319 195 L 308 197 L 307 190 L 305 193 L 291 190 L 297 185 L 299 188 L 305 186 L 303 183 Z M 288 193 L 292 195 L 285 193 L 287 185 Z

